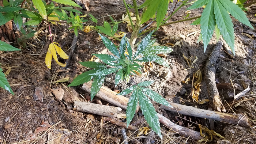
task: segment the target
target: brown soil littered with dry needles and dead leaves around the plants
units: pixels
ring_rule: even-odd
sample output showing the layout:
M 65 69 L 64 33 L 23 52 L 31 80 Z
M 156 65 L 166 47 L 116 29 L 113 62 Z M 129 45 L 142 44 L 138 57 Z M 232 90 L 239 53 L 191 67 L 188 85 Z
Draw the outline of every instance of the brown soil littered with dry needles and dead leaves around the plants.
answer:
M 132 4 L 127 0 L 128 4 Z M 142 4 L 143 1 L 138 1 Z M 170 4 L 173 7 L 174 3 Z M 109 15 L 114 19 L 121 20 L 125 14 L 123 1 L 120 0 L 103 0 L 91 1 L 90 11 L 80 10 L 83 14 L 92 14 L 98 19 L 97 25 L 102 25 L 103 21 L 110 22 Z M 184 19 L 185 8 L 181 8 L 168 22 Z M 200 16 L 203 9 L 192 10 L 189 18 Z M 256 13 L 256 6 L 249 9 L 249 20 L 256 21 L 253 17 Z M 104 17 L 103 17 L 104 16 Z M 204 76 L 204 66 L 211 54 L 212 49 L 217 43 L 214 34 L 210 41 L 206 52 L 203 50 L 202 42 L 197 43 L 199 37 L 200 26 L 190 25 L 192 21 L 185 21 L 169 26 L 161 27 L 152 38 L 157 39 L 160 45 L 168 45 L 172 43 L 173 52 L 162 56 L 169 64 L 170 68 L 163 67 L 157 63 L 146 63 L 142 69 L 141 77 L 134 76 L 136 83 L 146 80 L 154 80 L 155 82 L 149 86 L 152 90 L 161 94 L 167 101 L 180 103 L 188 106 L 198 107 L 200 109 L 208 109 L 210 102 L 199 104 L 191 98 L 191 80 L 193 73 L 198 69 L 202 71 Z M 243 113 L 250 118 L 249 128 L 225 124 L 214 121 L 214 131 L 224 136 L 224 139 L 215 137 L 210 143 L 256 143 L 256 105 L 255 105 L 255 82 L 256 82 L 256 39 L 250 39 L 242 33 L 242 30 L 248 29 L 246 26 L 234 19 L 235 28 L 235 48 L 236 56 L 230 56 L 225 49 L 221 49 L 216 64 L 216 83 L 229 83 L 233 85 L 232 89 L 219 89 L 219 95 L 227 113 Z M 95 26 L 90 20 L 87 24 Z M 148 24 L 148 23 L 146 23 Z M 146 26 L 144 24 L 143 26 Z M 254 23 L 252 23 L 254 24 Z M 155 23 L 151 24 L 150 29 Z M 255 24 L 254 24 L 255 25 Z M 1 52 L 1 68 L 3 71 L 10 72 L 7 74 L 8 82 L 12 87 L 15 95 L 9 94 L 7 91 L 0 89 L 0 142 L 1 143 L 63 143 L 63 144 L 101 144 L 101 143 L 121 143 L 121 127 L 102 121 L 102 116 L 78 112 L 72 110 L 72 102 L 90 100 L 90 93 L 80 89 L 81 86 L 67 87 L 68 82 L 52 83 L 56 80 L 70 77 L 72 74 L 80 74 L 88 71 L 87 68 L 80 65 L 79 61 L 91 60 L 93 53 L 110 54 L 108 49 L 103 45 L 99 35 L 95 31 L 84 33 L 79 31 L 77 48 L 71 54 L 70 61 L 66 69 L 60 68 L 56 62 L 52 61 L 52 70 L 45 66 L 45 56 L 48 50 L 50 39 L 46 38 L 48 27 L 46 23 L 40 24 L 40 32 L 34 38 L 27 41 L 26 48 L 21 48 L 20 52 Z M 53 41 L 58 42 L 66 53 L 70 53 L 69 48 L 72 46 L 74 32 L 68 30 L 67 25 L 52 27 Z M 127 23 L 120 23 L 118 31 L 128 33 Z M 35 29 L 39 30 L 39 29 Z M 249 29 L 248 29 L 249 30 Z M 250 29 L 252 31 L 252 29 Z M 191 34 L 196 32 L 195 34 Z M 255 33 L 255 31 L 254 31 Z M 189 35 L 191 34 L 191 35 Z M 127 37 L 130 37 L 130 33 Z M 143 35 L 141 38 L 142 39 Z M 86 44 L 84 44 L 86 42 Z M 118 45 L 118 41 L 114 41 Z M 189 69 L 187 61 L 182 56 L 191 58 L 192 61 L 197 57 L 194 68 Z M 94 58 L 93 60 L 96 60 Z M 64 62 L 64 60 L 60 60 Z M 10 69 L 10 70 L 8 70 Z M 75 71 L 75 73 L 73 73 Z M 114 86 L 114 74 L 106 76 L 103 86 L 110 90 L 123 91 L 131 85 L 132 81 L 121 82 Z M 190 78 L 188 83 L 182 81 Z M 62 87 L 64 90 L 63 101 L 55 98 L 51 89 Z M 234 94 L 238 94 L 245 88 L 250 87 L 251 90 L 241 99 L 234 100 Z M 127 95 L 129 98 L 129 95 Z M 204 79 L 200 83 L 199 102 L 208 99 L 207 87 Z M 111 105 L 102 100 L 103 105 Z M 93 100 L 93 103 L 96 101 Z M 153 102 L 156 111 L 169 120 L 187 128 L 200 131 L 197 124 L 201 124 L 210 129 L 208 119 L 189 117 L 186 115 L 170 113 L 162 108 L 159 104 Z M 124 113 L 124 110 L 123 110 Z M 185 119 L 185 121 L 184 121 Z M 125 119 L 120 121 L 125 122 Z M 133 126 L 139 128 L 148 127 L 142 114 L 139 112 L 131 122 Z M 154 136 L 151 143 L 199 143 L 191 139 L 180 137 L 177 133 L 170 133 L 168 128 L 161 126 L 162 132 L 165 133 L 163 140 L 158 136 Z M 143 143 L 147 139 L 143 136 L 137 136 L 138 131 L 126 130 L 129 137 L 129 143 Z M 53 138 L 56 138 L 52 140 Z M 146 139 L 146 140 L 145 140 Z M 52 140 L 52 141 L 50 141 Z

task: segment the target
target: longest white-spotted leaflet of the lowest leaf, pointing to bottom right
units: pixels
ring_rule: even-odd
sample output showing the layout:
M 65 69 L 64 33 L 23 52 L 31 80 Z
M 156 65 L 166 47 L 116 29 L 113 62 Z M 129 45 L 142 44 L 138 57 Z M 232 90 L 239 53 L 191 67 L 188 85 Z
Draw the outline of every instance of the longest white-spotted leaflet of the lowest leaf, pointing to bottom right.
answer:
M 136 89 L 138 90 L 140 109 L 142 110 L 144 118 L 146 119 L 148 125 L 154 130 L 154 132 L 157 133 L 162 139 L 160 123 L 158 121 L 157 112 L 155 111 L 154 106 L 140 88 Z

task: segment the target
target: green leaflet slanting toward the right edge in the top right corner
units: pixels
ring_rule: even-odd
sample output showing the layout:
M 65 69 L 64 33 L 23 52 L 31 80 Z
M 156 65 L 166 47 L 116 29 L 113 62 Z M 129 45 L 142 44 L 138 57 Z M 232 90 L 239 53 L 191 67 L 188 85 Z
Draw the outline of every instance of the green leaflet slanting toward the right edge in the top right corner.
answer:
M 234 4 L 230 0 L 220 0 L 223 7 L 226 8 L 226 10 L 234 16 L 237 20 L 239 20 L 241 23 L 245 24 L 246 26 L 251 27 L 254 29 L 249 22 L 248 18 L 246 17 L 246 13 L 241 10 L 241 8 L 238 7 L 238 5 Z

